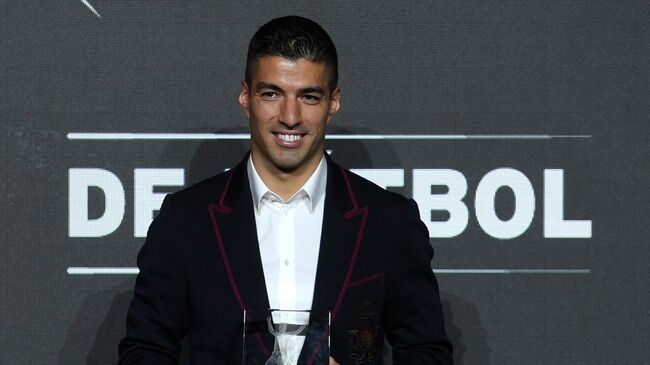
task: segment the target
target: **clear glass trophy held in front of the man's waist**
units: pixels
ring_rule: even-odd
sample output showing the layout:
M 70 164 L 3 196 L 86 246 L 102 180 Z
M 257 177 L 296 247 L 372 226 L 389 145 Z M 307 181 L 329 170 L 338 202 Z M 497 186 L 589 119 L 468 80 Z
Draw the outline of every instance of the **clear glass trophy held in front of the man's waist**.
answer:
M 329 311 L 244 311 L 243 365 L 328 365 Z

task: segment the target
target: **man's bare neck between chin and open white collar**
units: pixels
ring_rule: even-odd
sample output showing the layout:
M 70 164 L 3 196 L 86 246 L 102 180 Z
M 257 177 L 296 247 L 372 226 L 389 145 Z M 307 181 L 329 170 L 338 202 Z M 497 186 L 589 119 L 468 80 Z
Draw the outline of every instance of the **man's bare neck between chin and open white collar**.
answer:
M 322 154 L 316 155 L 312 161 L 287 171 L 280 170 L 275 166 L 268 166 L 269 164 L 265 163 L 265 161 L 256 159 L 254 153 L 251 158 L 253 159 L 255 171 L 264 184 L 284 201 L 287 201 L 309 180 L 316 168 L 318 168 L 322 156 Z

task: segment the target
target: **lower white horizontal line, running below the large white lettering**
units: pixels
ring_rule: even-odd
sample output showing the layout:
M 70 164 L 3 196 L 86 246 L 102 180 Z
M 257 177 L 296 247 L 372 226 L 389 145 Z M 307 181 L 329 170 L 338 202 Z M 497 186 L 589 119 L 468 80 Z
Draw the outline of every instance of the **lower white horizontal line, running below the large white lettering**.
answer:
M 137 267 L 69 267 L 70 275 L 137 275 Z M 433 269 L 436 274 L 590 274 L 589 269 Z

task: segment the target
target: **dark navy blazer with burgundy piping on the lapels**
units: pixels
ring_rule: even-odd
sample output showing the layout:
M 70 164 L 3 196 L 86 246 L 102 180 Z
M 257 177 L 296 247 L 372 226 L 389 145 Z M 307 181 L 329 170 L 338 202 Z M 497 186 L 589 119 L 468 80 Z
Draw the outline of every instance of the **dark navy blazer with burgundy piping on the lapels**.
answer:
M 451 364 L 417 205 L 327 163 L 312 307 L 331 311 L 331 356 L 381 364 L 385 334 L 395 364 Z M 243 311 L 269 308 L 246 158 L 165 198 L 138 267 L 120 364 L 176 364 L 186 335 L 192 364 L 241 364 Z

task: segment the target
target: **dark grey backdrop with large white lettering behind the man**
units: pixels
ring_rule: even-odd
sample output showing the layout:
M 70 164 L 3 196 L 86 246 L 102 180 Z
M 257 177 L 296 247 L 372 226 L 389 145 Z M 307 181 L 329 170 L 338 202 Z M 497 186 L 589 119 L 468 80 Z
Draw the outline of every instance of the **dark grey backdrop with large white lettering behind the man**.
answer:
M 110 364 L 162 196 L 247 150 L 267 20 L 340 54 L 335 160 L 415 198 L 457 364 L 650 362 L 646 1 L 0 1 L 0 363 Z

